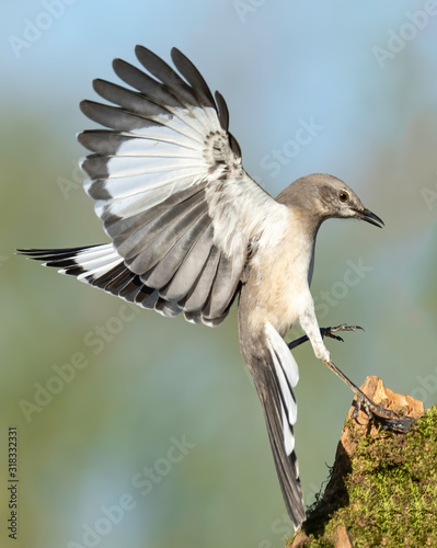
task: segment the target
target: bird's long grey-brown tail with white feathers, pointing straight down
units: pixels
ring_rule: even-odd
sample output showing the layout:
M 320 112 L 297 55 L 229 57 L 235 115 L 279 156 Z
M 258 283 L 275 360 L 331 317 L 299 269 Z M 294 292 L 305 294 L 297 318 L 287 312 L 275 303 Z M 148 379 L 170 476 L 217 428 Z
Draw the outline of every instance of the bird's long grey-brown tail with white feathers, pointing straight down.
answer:
M 298 529 L 306 518 L 294 432 L 297 404 L 292 388 L 298 383 L 299 372 L 284 339 L 268 327 L 266 335 L 271 359 L 268 367 L 263 364 L 264 375 L 255 376 L 255 386 L 263 406 L 284 501 L 295 529 Z

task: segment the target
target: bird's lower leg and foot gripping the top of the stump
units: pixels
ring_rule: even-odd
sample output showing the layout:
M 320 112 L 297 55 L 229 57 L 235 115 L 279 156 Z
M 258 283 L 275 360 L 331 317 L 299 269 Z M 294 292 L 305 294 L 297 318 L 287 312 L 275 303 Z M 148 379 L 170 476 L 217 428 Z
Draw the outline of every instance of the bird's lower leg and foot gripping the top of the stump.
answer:
M 323 363 L 335 373 L 337 377 L 340 377 L 355 393 L 357 398 L 357 402 L 354 410 L 354 419 L 357 420 L 358 411 L 363 410 L 369 420 L 373 420 L 379 422 L 384 429 L 391 430 L 393 432 L 407 432 L 410 425 L 414 421 L 411 416 L 400 416 L 394 411 L 390 409 L 384 409 L 381 406 L 377 406 L 368 398 L 363 390 L 360 390 L 354 383 L 346 377 L 346 375 L 338 369 L 338 367 L 332 362 Z

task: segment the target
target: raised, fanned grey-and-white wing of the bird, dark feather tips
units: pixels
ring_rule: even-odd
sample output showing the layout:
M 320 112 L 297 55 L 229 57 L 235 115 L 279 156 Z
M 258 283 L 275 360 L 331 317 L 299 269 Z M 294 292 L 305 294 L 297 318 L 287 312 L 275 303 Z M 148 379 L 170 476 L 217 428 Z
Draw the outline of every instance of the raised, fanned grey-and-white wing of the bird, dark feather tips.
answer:
M 225 100 L 218 92 L 214 99 L 193 64 L 175 48 L 179 72 L 145 47 L 136 54 L 148 73 L 120 59 L 113 64 L 133 89 L 95 80 L 113 105 L 81 103 L 108 128 L 78 137 L 92 151 L 82 162 L 84 187 L 114 242 L 114 275 L 135 277 L 168 316 L 184 311 L 192 321 L 217 324 L 238 293 L 248 249 L 280 238 L 286 208 L 244 171 Z M 275 228 L 272 218 L 279 220 Z M 56 265 L 53 259 L 48 264 Z M 101 273 L 107 284 L 111 270 Z M 92 283 L 104 288 L 95 273 Z

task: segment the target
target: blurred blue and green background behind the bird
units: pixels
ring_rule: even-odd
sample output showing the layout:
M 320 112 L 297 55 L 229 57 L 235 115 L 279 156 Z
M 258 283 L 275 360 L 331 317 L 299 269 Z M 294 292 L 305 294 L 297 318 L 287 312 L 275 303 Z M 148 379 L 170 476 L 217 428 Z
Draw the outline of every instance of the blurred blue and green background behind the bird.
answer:
M 320 323 L 366 329 L 327 343 L 357 384 L 378 375 L 426 407 L 436 403 L 434 4 L 3 3 L 2 546 L 13 543 L 5 527 L 11 425 L 20 447 L 13 546 L 272 548 L 291 533 L 234 311 L 215 330 L 137 315 L 13 254 L 107 241 L 81 190 L 84 151 L 74 134 L 91 124 L 78 103 L 95 99 L 92 78 L 115 79 L 114 57 L 135 62 L 137 43 L 165 59 L 177 46 L 220 90 L 244 165 L 273 195 L 298 176 L 329 172 L 384 219 L 383 230 L 323 226 L 312 286 Z M 292 149 L 302 121 L 318 126 L 315 135 L 273 168 L 274 150 Z M 297 450 L 311 503 L 352 395 L 311 349 L 295 355 Z M 82 368 L 59 380 L 59 372 L 73 375 L 72 361 Z M 48 388 L 57 393 L 44 396 Z

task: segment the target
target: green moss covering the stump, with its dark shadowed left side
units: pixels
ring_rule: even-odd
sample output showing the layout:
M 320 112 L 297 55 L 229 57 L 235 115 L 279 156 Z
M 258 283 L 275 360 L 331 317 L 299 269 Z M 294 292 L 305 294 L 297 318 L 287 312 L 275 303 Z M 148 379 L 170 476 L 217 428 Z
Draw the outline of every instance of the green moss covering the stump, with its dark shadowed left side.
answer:
M 306 546 L 333 547 L 343 524 L 355 548 L 437 547 L 437 407 L 406 435 L 380 431 L 373 438 L 348 426 L 356 447 L 310 509 Z

